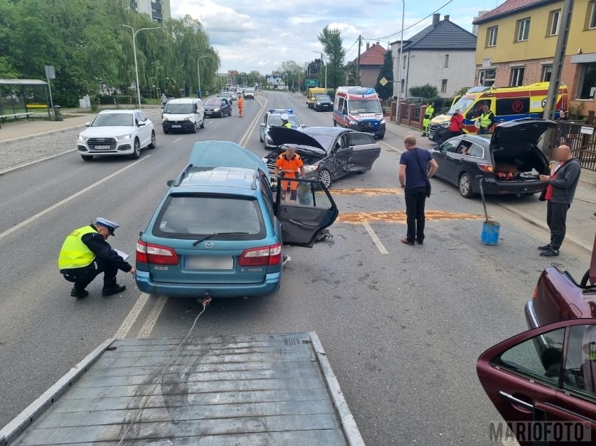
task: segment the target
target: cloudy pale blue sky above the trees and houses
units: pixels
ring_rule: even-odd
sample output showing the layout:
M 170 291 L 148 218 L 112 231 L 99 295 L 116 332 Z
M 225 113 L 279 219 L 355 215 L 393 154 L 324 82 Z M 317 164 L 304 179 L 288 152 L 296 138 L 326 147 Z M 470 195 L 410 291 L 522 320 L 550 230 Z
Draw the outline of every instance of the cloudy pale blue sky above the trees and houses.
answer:
M 444 6 L 449 0 L 405 0 L 404 39 L 432 23 L 425 16 Z M 503 0 L 452 0 L 441 8 L 441 20 L 450 21 L 471 31 L 471 22 L 480 10 L 495 8 Z M 388 48 L 399 40 L 402 27 L 402 2 L 399 0 L 171 0 L 173 17 L 190 15 L 201 21 L 211 45 L 219 52 L 222 66 L 228 70 L 274 71 L 281 62 L 299 64 L 318 57 L 322 47 L 318 34 L 325 25 L 341 30 L 346 48 L 346 62 L 356 59 L 361 34 L 362 52 L 366 42 Z M 397 34 L 395 34 L 397 33 Z M 395 34 L 394 36 L 389 36 Z

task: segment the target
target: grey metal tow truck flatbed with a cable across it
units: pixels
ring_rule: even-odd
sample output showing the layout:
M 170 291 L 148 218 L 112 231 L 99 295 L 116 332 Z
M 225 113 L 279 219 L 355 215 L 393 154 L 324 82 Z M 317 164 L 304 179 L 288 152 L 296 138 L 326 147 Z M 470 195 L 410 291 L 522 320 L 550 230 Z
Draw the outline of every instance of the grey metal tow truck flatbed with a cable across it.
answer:
M 106 340 L 0 446 L 364 445 L 316 333 L 181 341 Z

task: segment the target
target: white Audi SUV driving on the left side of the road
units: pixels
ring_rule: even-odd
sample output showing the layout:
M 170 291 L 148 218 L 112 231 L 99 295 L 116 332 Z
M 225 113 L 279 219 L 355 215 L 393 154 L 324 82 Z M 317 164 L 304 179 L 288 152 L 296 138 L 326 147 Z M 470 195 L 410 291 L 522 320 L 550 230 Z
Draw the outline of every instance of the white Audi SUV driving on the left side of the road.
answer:
M 78 134 L 80 157 L 128 156 L 137 159 L 141 148 L 155 149 L 153 123 L 141 110 L 102 110 Z

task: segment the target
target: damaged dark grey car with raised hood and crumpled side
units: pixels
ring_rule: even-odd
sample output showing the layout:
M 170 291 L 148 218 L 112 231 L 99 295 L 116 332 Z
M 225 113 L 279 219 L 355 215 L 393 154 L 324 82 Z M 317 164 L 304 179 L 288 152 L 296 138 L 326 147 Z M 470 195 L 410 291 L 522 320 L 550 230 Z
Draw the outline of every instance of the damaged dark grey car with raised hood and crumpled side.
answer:
M 271 127 L 269 137 L 275 145 L 291 146 L 304 162 L 306 178 L 318 180 L 325 187 L 348 173 L 371 170 L 381 154 L 381 146 L 371 134 L 337 127 L 309 127 L 302 131 Z M 280 147 L 267 154 L 263 161 L 273 172 L 277 157 L 285 152 Z

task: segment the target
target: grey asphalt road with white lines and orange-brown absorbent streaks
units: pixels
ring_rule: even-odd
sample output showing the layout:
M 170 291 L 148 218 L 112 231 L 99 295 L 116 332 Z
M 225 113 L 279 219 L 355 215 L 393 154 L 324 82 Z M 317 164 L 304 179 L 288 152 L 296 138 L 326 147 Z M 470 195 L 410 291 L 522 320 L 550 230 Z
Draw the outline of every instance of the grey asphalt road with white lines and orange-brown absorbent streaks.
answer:
M 76 300 L 57 272 L 57 253 L 69 231 L 101 216 L 121 226 L 113 247 L 134 254 L 194 141 L 236 141 L 265 154 L 256 129 L 266 108 L 294 108 L 308 126 L 332 124 L 291 94 L 266 92 L 245 104 L 245 117 L 208 120 L 197 134 L 164 135 L 157 125 L 157 148 L 138 161 L 87 163 L 71 153 L 0 177 L 0 426 L 117 332 L 187 334 L 196 301 L 147 298 L 130 275 L 119 278 L 127 285 L 121 296 L 102 298 L 97 280 Z M 548 265 L 536 250 L 546 233 L 492 206 L 501 240 L 482 245 L 480 201 L 432 180 L 425 245 L 403 245 L 402 140 L 387 134 L 382 147 L 372 171 L 334 183 L 342 221 L 333 239 L 290 248 L 276 294 L 214 301 L 193 336 L 316 331 L 367 444 L 488 443 L 488 424 L 500 417 L 476 359 L 525 329 L 523 305 Z M 556 262 L 577 276 L 588 254 L 568 244 Z

